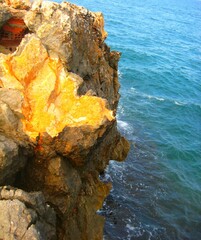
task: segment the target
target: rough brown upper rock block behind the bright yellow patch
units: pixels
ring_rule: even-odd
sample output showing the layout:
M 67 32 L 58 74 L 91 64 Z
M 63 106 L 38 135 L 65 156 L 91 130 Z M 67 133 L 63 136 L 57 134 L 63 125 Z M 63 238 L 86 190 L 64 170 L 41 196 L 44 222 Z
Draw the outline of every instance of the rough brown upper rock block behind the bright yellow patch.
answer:
M 25 23 L 47 47 L 50 55 L 57 54 L 72 71 L 85 81 L 80 89 L 89 89 L 106 98 L 115 110 L 119 99 L 118 52 L 110 52 L 104 43 L 107 33 L 101 13 L 64 2 L 43 2 L 25 15 Z

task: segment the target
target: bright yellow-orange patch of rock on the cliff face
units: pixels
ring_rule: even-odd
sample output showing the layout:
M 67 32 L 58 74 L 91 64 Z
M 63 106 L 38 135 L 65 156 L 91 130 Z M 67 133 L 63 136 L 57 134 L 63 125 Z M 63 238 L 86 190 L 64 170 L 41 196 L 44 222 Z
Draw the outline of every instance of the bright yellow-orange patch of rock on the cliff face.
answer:
M 1 58 L 0 80 L 4 87 L 24 94 L 22 121 L 31 138 L 42 132 L 57 136 L 65 126 L 97 128 L 114 119 L 104 99 L 77 95 L 79 76 L 66 72 L 60 60 L 48 57 L 35 37 L 21 52 Z

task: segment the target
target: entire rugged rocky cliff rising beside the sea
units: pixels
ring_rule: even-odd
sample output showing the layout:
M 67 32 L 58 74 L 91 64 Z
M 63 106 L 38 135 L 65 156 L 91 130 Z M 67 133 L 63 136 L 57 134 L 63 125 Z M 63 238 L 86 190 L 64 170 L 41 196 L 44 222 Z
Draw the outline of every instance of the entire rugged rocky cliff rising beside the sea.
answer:
M 103 16 L 9 0 L 0 27 L 0 239 L 102 239 L 99 174 L 129 151 Z

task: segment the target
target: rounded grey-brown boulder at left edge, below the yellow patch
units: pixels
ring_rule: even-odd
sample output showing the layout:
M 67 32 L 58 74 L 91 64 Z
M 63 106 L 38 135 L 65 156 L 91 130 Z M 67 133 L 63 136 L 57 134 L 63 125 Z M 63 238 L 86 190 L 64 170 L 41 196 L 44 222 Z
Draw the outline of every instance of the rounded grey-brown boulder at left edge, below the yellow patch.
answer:
M 0 88 L 0 185 L 12 184 L 31 155 L 31 143 L 22 131 L 21 105 L 19 91 Z

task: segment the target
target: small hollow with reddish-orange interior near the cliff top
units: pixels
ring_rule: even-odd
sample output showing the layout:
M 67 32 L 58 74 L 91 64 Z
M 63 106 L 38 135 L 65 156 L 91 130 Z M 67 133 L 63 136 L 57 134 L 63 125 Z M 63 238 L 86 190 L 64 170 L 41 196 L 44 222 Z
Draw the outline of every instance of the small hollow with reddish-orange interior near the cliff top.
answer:
M 10 18 L 0 29 L 0 53 L 15 52 L 27 33 L 30 31 L 23 19 Z

